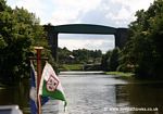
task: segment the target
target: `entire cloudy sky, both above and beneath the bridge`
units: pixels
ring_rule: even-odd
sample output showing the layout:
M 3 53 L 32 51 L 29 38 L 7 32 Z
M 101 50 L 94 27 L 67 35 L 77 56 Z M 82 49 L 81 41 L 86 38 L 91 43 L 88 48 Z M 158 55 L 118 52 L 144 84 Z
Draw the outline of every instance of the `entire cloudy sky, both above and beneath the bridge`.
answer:
M 7 0 L 7 4 L 25 8 L 40 18 L 40 24 L 96 24 L 128 27 L 138 10 L 147 10 L 154 0 Z M 59 34 L 59 47 L 106 52 L 114 48 L 111 35 Z

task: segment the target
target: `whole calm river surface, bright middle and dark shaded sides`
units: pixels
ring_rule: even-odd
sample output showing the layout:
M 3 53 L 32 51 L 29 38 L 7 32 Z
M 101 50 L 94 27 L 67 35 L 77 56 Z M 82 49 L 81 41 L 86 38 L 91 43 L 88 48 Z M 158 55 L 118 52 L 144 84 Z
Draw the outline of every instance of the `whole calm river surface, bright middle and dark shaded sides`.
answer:
M 50 100 L 43 114 L 163 114 L 163 81 L 126 80 L 99 72 L 62 72 L 59 77 L 66 112 L 62 102 Z M 0 89 L 0 104 L 18 104 L 28 114 L 28 89 Z

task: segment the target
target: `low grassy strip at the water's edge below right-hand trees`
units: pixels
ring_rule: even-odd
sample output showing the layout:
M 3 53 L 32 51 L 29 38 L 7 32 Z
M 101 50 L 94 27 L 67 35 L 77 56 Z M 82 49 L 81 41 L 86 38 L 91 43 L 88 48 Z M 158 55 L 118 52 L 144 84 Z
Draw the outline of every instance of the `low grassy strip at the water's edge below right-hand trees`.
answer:
M 131 78 L 134 76 L 133 73 L 123 73 L 123 72 L 105 72 L 106 75 L 120 76 L 122 78 Z

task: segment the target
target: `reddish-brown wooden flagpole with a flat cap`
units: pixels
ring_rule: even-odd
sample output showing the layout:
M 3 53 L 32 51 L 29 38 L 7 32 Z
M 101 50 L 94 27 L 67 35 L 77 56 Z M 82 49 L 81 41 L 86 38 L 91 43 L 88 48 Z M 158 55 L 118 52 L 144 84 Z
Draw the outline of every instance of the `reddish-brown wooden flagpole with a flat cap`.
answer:
M 39 84 L 40 84 L 40 78 L 41 78 L 41 50 L 43 47 L 35 47 L 35 50 L 37 51 L 37 109 L 38 109 L 38 114 L 41 114 L 41 101 L 40 101 L 40 96 L 38 94 L 39 90 Z

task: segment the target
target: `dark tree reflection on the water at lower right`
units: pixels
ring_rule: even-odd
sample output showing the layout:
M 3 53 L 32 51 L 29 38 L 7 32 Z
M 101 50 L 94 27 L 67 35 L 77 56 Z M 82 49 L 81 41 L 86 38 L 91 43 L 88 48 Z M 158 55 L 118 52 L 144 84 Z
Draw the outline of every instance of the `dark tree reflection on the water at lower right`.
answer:
M 116 103 L 129 107 L 159 107 L 163 113 L 163 85 L 161 84 L 129 84 L 116 86 Z M 122 105 L 126 104 L 128 105 Z M 153 114 L 154 112 L 130 112 L 130 114 Z

